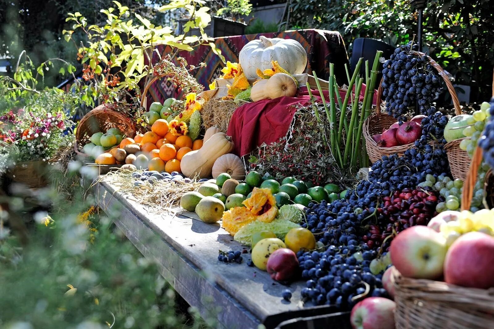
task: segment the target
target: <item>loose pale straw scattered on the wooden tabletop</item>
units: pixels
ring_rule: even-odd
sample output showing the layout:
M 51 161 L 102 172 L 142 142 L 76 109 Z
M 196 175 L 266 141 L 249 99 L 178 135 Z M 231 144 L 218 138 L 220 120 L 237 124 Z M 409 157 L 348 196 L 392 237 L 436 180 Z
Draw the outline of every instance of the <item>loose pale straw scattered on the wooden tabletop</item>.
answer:
M 136 179 L 131 176 L 132 171 L 116 170 L 107 173 L 99 178 L 99 181 L 106 181 L 119 187 L 119 192 L 130 194 L 137 203 L 149 206 L 150 212 L 173 213 L 179 210 L 180 199 L 187 192 L 197 191 L 203 183 L 193 180 L 186 182 L 156 181 L 153 185 L 145 182 L 144 185 L 134 186 Z

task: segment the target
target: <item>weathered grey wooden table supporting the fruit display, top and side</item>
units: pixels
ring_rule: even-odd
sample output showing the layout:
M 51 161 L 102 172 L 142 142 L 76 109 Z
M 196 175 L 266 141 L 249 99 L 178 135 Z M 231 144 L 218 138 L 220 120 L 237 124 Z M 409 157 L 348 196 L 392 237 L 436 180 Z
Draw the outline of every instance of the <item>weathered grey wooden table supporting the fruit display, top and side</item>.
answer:
M 95 184 L 100 208 L 146 258 L 158 263 L 165 280 L 203 317 L 217 318 L 228 329 L 261 323 L 269 329 L 287 319 L 328 312 L 328 307 L 303 307 L 302 282 L 283 286 L 267 272 L 248 267 L 249 253 L 242 254 L 242 264 L 219 262 L 218 250 L 246 248 L 219 224 L 193 219 L 191 213 L 152 213 L 117 191 L 104 177 Z M 281 297 L 286 288 L 292 291 L 290 302 Z

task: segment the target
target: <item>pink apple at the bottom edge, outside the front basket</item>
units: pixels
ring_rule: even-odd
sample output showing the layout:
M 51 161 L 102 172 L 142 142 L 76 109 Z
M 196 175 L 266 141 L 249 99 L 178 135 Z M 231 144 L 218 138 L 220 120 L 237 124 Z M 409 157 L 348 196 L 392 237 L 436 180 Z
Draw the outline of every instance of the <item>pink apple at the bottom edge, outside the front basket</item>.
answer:
M 396 304 L 383 297 L 369 297 L 358 302 L 350 314 L 353 329 L 394 329 Z

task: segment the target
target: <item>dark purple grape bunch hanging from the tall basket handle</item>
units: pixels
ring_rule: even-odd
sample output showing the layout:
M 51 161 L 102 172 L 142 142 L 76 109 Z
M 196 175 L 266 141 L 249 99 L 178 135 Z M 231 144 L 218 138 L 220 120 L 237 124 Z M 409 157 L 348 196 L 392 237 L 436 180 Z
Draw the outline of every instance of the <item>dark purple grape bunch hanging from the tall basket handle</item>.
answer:
M 386 111 L 398 121 L 407 121 L 410 107 L 418 103 L 420 114 L 432 115 L 436 109 L 431 102 L 441 91 L 441 82 L 426 55 L 413 51 L 418 45 L 413 41 L 395 49 L 390 59 L 383 64 L 383 96 Z

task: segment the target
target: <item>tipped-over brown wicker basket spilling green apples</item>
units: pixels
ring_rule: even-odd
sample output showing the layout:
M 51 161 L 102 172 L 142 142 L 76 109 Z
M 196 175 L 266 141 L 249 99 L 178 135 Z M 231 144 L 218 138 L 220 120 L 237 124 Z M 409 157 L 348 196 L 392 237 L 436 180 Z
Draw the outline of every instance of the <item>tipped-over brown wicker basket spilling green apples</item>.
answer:
M 77 126 L 75 149 L 77 154 L 87 156 L 80 152 L 79 147 L 91 141 L 95 132 L 107 131 L 110 128 L 118 128 L 127 137 L 135 135 L 135 125 L 123 113 L 115 110 L 115 104 L 102 104 L 89 111 Z

